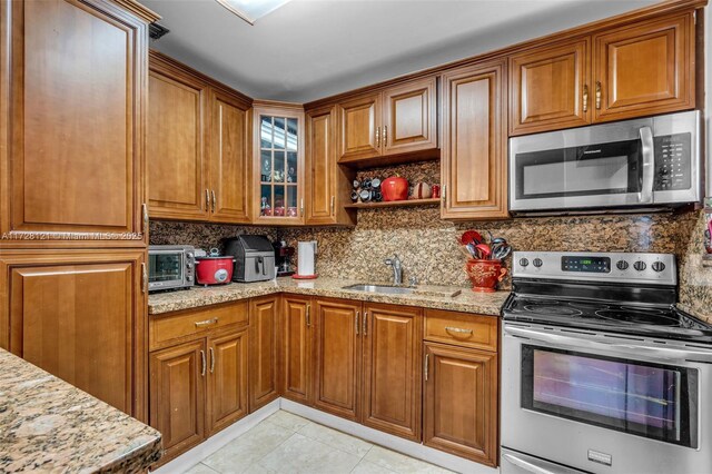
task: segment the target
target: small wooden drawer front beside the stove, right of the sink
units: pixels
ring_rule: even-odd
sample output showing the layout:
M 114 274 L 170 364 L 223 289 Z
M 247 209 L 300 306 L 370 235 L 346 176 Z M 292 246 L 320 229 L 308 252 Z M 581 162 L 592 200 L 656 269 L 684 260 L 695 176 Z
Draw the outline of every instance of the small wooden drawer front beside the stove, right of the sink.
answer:
M 427 309 L 425 339 L 485 350 L 497 350 L 497 317 Z

